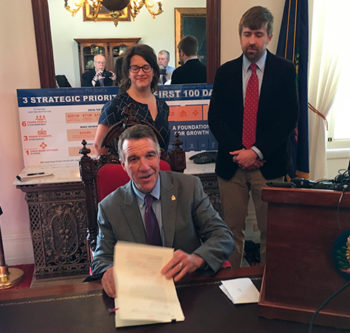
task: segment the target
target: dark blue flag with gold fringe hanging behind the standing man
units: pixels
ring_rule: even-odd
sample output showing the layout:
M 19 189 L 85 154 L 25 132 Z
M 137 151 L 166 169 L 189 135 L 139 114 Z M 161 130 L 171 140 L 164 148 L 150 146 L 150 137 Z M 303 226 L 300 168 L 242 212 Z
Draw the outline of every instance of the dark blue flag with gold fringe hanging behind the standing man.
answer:
M 290 137 L 289 176 L 309 177 L 307 64 L 309 48 L 308 0 L 286 0 L 277 55 L 294 62 L 297 71 L 299 119 Z

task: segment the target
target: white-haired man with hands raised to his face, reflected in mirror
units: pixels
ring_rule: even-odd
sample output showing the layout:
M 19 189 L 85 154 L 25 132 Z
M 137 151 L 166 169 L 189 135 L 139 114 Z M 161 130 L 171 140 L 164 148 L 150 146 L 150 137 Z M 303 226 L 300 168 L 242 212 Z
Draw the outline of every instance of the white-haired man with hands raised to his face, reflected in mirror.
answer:
M 104 87 L 112 86 L 116 76 L 113 72 L 105 70 L 106 58 L 103 54 L 94 56 L 95 69 L 85 72 L 82 76 L 82 87 Z

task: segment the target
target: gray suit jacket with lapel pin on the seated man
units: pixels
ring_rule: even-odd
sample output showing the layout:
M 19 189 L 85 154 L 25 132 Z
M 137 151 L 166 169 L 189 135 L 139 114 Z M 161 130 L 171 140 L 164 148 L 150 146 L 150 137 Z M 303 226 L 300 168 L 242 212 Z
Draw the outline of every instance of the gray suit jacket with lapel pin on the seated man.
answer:
M 212 207 L 194 176 L 160 172 L 164 246 L 199 255 L 216 272 L 233 251 L 232 233 Z M 119 187 L 98 207 L 99 234 L 91 263 L 94 274 L 113 265 L 118 240 L 146 243 L 146 234 L 131 182 Z

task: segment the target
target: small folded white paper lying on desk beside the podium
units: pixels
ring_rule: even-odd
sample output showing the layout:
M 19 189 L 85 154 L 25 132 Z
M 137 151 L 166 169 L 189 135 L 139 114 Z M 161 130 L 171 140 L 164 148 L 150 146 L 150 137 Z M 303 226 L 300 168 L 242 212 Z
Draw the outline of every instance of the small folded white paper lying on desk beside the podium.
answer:
M 249 278 L 221 281 L 220 289 L 234 303 L 257 303 L 259 291 Z

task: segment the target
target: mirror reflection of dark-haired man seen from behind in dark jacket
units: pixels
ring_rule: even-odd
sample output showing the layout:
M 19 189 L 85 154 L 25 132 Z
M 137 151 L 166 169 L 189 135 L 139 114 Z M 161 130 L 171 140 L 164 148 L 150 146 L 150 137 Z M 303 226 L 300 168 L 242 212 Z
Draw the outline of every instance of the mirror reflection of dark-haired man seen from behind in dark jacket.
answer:
M 171 84 L 206 83 L 207 68 L 198 59 L 197 38 L 185 36 L 180 40 L 177 48 L 181 66 L 174 70 Z

